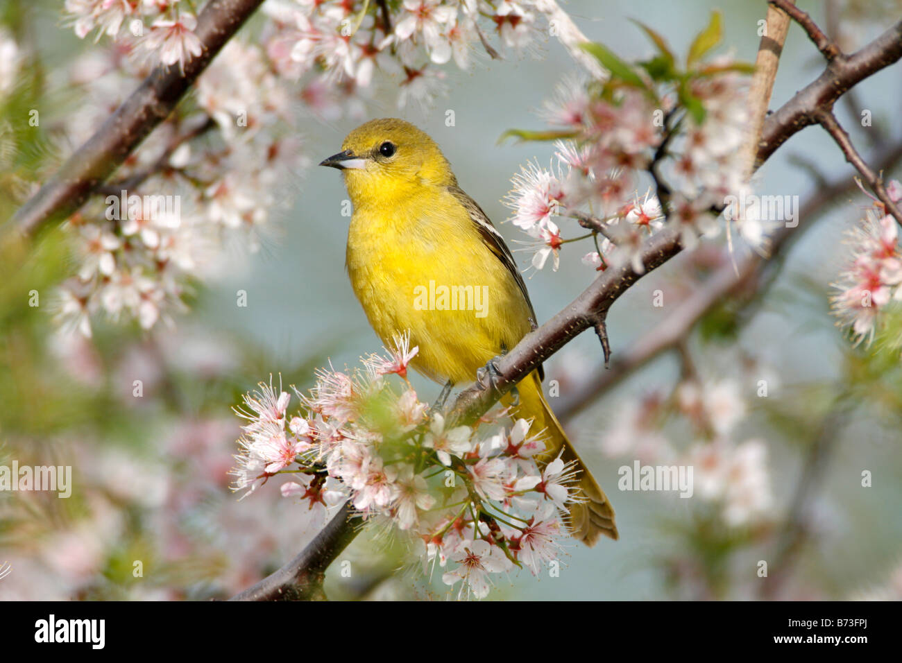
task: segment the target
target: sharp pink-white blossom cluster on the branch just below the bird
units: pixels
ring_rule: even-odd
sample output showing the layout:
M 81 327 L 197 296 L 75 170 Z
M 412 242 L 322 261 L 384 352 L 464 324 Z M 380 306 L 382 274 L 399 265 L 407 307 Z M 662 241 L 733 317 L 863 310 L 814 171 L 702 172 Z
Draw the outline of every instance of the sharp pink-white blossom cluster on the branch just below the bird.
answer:
M 406 374 L 418 348 L 395 340 L 389 356 L 371 355 L 353 372 L 321 370 L 312 390 L 296 391 L 295 416 L 290 394 L 272 382 L 247 394 L 235 490 L 253 493 L 284 474 L 281 494 L 308 510 L 350 500 L 365 520 L 415 543 L 446 585 L 462 581 L 458 597 L 483 598 L 515 566 L 538 576 L 561 551 L 568 504 L 580 499 L 574 467 L 545 456 L 526 419 L 484 436 L 450 425 L 406 379 L 396 391 L 386 376 Z

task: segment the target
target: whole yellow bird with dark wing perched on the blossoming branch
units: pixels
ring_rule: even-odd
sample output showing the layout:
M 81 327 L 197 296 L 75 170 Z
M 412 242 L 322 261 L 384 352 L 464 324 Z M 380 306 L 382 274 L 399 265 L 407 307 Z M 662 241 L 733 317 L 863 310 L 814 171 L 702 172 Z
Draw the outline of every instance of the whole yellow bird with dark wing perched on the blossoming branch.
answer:
M 535 327 L 526 284 L 502 235 L 457 186 L 426 133 L 399 119 L 373 120 L 319 165 L 342 171 L 354 206 L 346 254 L 354 294 L 386 345 L 410 329 L 410 345 L 419 345 L 411 365 L 420 373 L 446 382 L 446 389 L 472 382 Z M 476 300 L 481 293 L 484 301 Z M 563 459 L 581 471 L 585 499 L 570 507 L 575 538 L 589 546 L 602 534 L 617 539 L 611 504 L 542 395 L 540 369 L 517 391 L 518 414 L 534 419 L 531 429 L 547 430 L 545 458 L 563 448 Z

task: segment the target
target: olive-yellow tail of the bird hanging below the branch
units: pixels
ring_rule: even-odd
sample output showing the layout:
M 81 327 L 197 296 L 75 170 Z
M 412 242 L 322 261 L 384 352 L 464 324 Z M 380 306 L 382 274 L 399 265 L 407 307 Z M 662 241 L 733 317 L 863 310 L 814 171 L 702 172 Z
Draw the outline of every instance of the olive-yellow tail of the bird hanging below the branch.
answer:
M 563 448 L 561 459 L 567 463 L 573 461 L 579 471 L 579 490 L 581 501 L 570 505 L 570 529 L 575 539 L 586 546 L 594 546 L 601 535 L 617 539 L 617 525 L 614 522 L 614 510 L 602 487 L 595 481 L 592 473 L 583 464 L 575 448 L 566 437 L 555 413 L 542 394 L 542 383 L 537 372 L 531 373 L 517 385 L 520 393 L 520 406 L 517 410 L 520 417 L 534 419 L 530 430 L 539 431 L 545 428 L 548 437 L 548 452 L 545 462 L 557 457 Z M 510 401 L 508 401 L 510 402 Z

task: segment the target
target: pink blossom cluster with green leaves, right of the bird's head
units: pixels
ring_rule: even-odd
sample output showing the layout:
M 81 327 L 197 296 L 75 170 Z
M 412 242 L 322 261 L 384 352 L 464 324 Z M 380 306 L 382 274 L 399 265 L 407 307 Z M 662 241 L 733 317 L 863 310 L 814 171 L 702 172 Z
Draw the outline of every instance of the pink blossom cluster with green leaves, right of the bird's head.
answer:
M 602 61 L 612 65 L 612 58 Z M 700 236 L 719 232 L 723 200 L 748 189 L 739 149 L 748 78 L 740 63 L 709 60 L 677 82 L 672 72 L 652 77 L 615 62 L 607 81 L 562 81 L 542 111 L 548 131 L 513 133 L 558 139 L 550 166 L 521 169 L 505 200 L 513 225 L 532 238 L 522 244 L 536 269 L 552 257 L 557 270 L 563 244 L 591 237 L 595 250 L 584 255 L 585 264 L 598 271 L 630 264 L 642 273 L 642 244 L 666 217 L 692 248 Z M 649 179 L 654 190 L 640 195 Z M 590 233 L 564 238 L 555 218 L 576 219 Z M 750 243 L 761 241 L 758 220 L 731 221 Z

